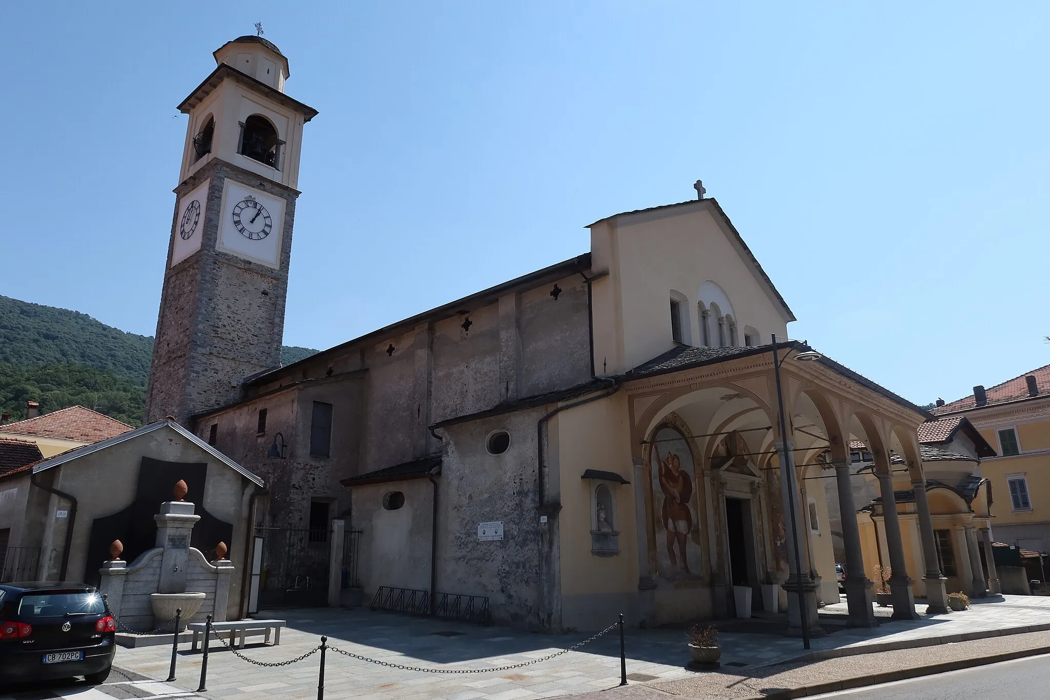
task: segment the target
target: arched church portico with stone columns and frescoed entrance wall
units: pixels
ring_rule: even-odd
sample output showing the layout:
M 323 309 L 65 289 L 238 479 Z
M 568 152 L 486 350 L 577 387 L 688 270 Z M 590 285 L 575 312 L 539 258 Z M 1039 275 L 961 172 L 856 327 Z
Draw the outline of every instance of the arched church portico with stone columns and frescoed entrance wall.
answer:
M 834 479 L 845 524 L 849 620 L 859 627 L 875 623 L 873 584 L 865 575 L 849 488 L 848 445 L 856 440 L 877 445 L 885 463 L 880 473 L 888 475 L 888 454 L 917 458 L 916 427 L 927 417 L 827 358 L 793 361 L 808 349 L 797 343 L 778 343 L 776 349 L 784 389 L 784 437 L 797 470 L 794 491 L 780 464 L 772 345 L 676 348 L 625 378 L 636 465 L 644 620 L 659 624 L 676 613 L 734 615 L 739 601 L 734 587 L 752 589 L 753 610 L 768 609 L 773 602 L 769 587 L 776 585 L 775 604 L 786 606 L 790 630 L 801 627 L 801 591 L 808 627 L 819 634 L 818 603 L 839 601 L 822 486 L 822 480 Z M 632 375 L 637 378 L 630 379 Z M 909 473 L 923 481 L 918 459 Z M 690 482 L 695 486 L 689 488 Z M 884 496 L 894 499 L 889 483 Z M 890 581 L 894 616 L 915 619 L 901 528 L 892 516 L 886 521 L 888 554 L 901 572 Z M 795 565 L 793 530 L 798 533 L 801 571 Z M 946 610 L 925 501 L 920 505 L 920 531 L 927 597 L 934 610 Z

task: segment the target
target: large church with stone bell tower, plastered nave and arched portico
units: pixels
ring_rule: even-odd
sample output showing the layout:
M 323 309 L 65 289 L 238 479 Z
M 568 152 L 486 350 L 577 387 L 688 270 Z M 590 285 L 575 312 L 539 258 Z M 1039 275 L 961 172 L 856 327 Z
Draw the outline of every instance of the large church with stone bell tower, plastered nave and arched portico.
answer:
M 285 93 L 272 43 L 242 37 L 215 59 L 180 106 L 147 420 L 172 416 L 258 474 L 260 529 L 346 521 L 365 600 L 380 587 L 479 596 L 496 621 L 551 631 L 748 609 L 786 609 L 798 628 L 801 593 L 816 628 L 817 603 L 839 600 L 835 480 L 850 620 L 869 625 L 860 441 L 877 474 L 892 458 L 920 485 L 923 591 L 946 610 L 916 433 L 930 415 L 786 340 L 795 316 L 699 183 L 697 198 L 594 221 L 578 257 L 280 366 L 317 111 Z M 895 615 L 914 618 L 880 484 Z

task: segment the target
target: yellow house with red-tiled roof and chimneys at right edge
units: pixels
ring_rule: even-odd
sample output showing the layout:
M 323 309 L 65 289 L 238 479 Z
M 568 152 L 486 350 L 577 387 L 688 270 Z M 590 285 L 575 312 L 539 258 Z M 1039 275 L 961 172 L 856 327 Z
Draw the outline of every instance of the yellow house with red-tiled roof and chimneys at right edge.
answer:
M 996 497 L 995 540 L 1050 551 L 1050 365 L 938 401 L 933 412 L 965 416 L 999 453 L 982 467 Z

